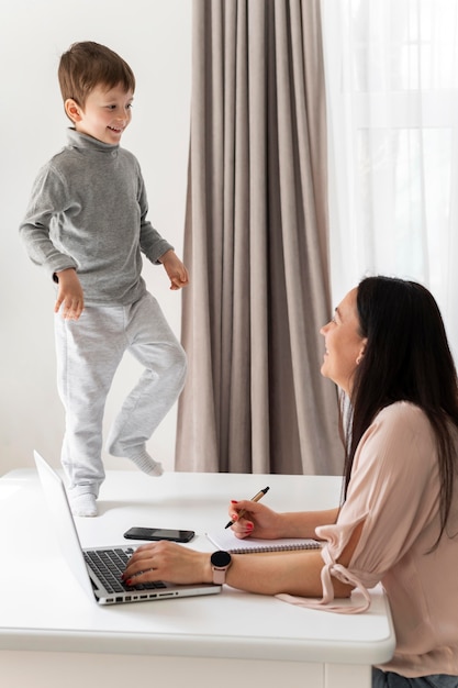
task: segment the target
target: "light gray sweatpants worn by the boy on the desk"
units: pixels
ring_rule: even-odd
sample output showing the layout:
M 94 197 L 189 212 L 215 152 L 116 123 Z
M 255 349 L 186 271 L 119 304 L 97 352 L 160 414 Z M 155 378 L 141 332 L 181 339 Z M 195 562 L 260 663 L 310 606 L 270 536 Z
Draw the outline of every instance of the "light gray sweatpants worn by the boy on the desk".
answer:
M 88 306 L 77 321 L 55 318 L 57 387 L 66 412 L 62 463 L 74 493 L 99 493 L 105 400 L 124 352 L 144 367 L 115 418 L 107 450 L 133 457 L 177 400 L 186 354 L 156 299 L 130 306 Z

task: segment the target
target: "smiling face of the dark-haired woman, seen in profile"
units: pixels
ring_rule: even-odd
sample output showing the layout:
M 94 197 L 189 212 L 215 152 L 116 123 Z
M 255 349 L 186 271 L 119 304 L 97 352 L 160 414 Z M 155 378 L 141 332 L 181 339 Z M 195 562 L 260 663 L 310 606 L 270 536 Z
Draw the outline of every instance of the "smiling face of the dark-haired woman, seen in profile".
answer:
M 335 309 L 333 320 L 320 330 L 325 346 L 321 373 L 347 395 L 351 391 L 355 370 L 364 356 L 367 342 L 359 333 L 357 292 L 357 288 L 351 289 Z

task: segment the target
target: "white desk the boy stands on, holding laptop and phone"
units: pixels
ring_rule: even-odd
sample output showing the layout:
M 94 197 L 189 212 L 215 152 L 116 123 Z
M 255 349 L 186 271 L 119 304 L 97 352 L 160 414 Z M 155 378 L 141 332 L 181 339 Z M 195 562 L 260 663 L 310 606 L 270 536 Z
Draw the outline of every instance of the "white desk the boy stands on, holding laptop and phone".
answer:
M 230 499 L 270 486 L 277 510 L 338 503 L 339 478 L 111 471 L 96 519 L 77 519 L 83 546 L 115 545 L 131 525 L 192 529 L 187 546 L 227 522 Z M 305 610 L 224 587 L 216 596 L 99 607 L 60 557 L 35 470 L 0 479 L 0 667 L 5 688 L 369 688 L 394 633 L 381 589 L 365 614 Z M 43 547 L 43 545 L 46 545 Z M 7 550 L 4 548 L 7 545 Z M 15 591 L 16 596 L 12 595 Z M 146 683 L 147 681 L 147 683 Z M 256 681 L 256 684 L 255 684 Z

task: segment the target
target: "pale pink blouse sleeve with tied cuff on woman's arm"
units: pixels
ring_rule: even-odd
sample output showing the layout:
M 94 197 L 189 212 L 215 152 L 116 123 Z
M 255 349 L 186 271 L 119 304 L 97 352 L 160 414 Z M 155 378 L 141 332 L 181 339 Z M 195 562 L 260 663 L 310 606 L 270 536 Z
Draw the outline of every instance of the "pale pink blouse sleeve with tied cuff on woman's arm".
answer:
M 428 526 L 437 514 L 438 495 L 436 445 L 427 418 L 406 402 L 387 407 L 359 443 L 347 499 L 336 523 L 316 529 L 325 541 L 323 598 L 308 600 L 305 606 L 326 606 L 345 613 L 366 610 L 370 603 L 368 588 L 383 579 Z M 358 544 L 348 567 L 344 567 L 338 558 L 361 522 Z M 329 604 L 334 599 L 332 576 L 359 588 L 364 604 Z M 279 597 L 293 603 L 305 601 Z

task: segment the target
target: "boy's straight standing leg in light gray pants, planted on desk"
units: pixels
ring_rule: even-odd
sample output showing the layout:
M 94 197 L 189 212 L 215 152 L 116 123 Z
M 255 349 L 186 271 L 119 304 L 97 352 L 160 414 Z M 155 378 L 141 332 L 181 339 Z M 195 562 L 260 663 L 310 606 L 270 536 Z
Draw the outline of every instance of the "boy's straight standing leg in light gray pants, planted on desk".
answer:
M 78 321 L 56 315 L 57 386 L 66 412 L 62 463 L 74 513 L 96 515 L 107 395 L 122 358 L 123 309 L 87 307 Z

